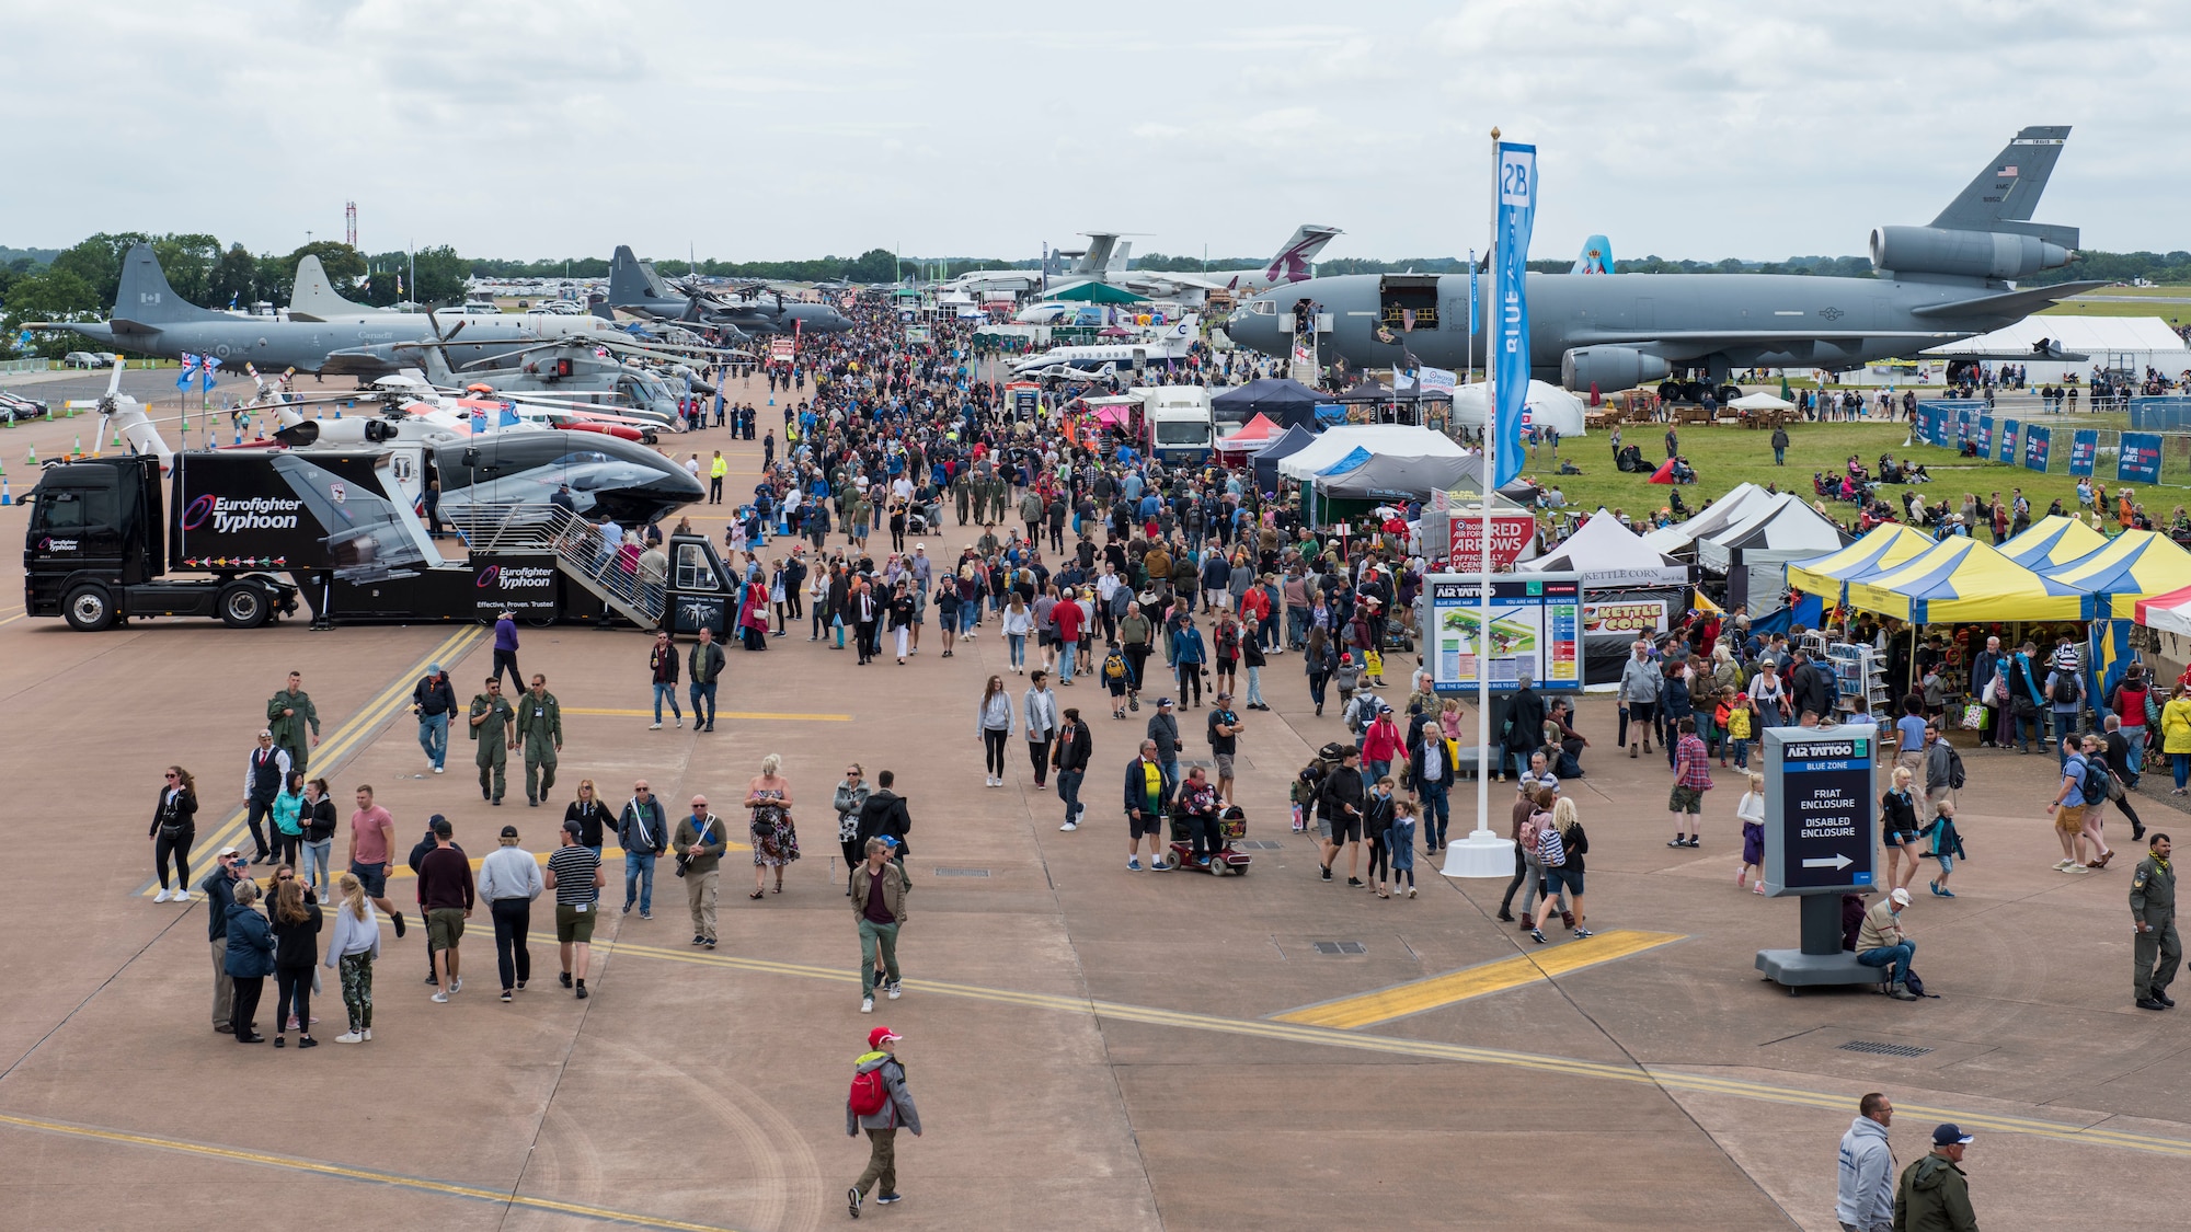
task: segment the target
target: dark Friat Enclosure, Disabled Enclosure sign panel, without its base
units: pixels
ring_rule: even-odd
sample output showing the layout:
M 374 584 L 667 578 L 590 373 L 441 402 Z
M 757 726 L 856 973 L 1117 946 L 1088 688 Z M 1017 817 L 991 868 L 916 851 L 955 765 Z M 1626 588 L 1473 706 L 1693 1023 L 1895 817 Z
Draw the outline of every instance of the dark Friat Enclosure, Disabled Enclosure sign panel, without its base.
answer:
M 1878 881 L 1880 730 L 1766 728 L 1766 894 L 1840 894 Z

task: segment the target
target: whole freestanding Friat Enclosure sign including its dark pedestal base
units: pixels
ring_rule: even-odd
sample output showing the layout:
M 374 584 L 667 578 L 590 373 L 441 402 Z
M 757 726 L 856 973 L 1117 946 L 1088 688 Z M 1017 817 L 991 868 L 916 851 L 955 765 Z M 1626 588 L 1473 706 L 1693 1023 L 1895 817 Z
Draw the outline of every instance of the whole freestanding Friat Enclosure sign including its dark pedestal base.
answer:
M 1788 989 L 1805 984 L 1878 984 L 1840 947 L 1840 897 L 1878 888 L 1880 820 L 1873 723 L 1766 728 L 1766 864 L 1768 897 L 1803 901 L 1801 949 L 1759 949 L 1757 969 Z

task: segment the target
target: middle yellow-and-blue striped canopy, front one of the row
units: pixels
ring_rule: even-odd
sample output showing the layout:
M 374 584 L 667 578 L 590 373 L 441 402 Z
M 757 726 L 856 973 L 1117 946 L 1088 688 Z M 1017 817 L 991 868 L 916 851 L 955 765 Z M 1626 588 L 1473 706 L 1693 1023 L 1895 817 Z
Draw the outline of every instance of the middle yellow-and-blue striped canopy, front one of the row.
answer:
M 1900 566 L 1849 583 L 1849 605 L 1915 625 L 1948 620 L 2086 620 L 2090 594 L 1954 535 Z

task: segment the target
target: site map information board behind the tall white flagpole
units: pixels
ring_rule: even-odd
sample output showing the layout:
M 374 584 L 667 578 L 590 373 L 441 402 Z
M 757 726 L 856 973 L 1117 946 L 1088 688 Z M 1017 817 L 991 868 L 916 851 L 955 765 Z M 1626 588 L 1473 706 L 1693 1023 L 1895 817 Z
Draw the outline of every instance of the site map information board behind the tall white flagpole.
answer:
M 1490 636 L 1483 636 L 1479 574 L 1431 574 L 1426 662 L 1437 693 L 1475 693 L 1477 673 L 1494 693 L 1529 673 L 1547 693 L 1582 691 L 1582 577 L 1492 574 Z

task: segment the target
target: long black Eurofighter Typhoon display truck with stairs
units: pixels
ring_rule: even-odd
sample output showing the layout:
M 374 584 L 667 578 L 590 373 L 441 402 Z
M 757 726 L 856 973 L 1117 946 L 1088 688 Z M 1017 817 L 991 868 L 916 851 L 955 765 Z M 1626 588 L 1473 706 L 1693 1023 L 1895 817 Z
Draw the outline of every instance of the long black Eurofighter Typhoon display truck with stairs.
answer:
M 427 524 L 434 482 L 462 535 Z M 659 563 L 611 544 L 699 495 L 653 449 L 594 432 L 173 454 L 167 484 L 151 456 L 53 463 L 31 498 L 24 609 L 83 631 L 140 616 L 250 629 L 300 598 L 318 625 L 513 612 L 727 631 L 736 588 L 706 537 L 673 535 Z

